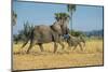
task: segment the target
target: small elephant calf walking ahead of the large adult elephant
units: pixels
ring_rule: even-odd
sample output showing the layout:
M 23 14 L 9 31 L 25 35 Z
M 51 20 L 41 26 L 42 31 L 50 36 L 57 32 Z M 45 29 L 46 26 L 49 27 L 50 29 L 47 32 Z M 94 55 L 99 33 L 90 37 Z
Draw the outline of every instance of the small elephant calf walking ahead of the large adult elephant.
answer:
M 83 51 L 81 42 L 83 43 L 83 46 L 85 46 L 85 40 L 83 37 L 72 37 L 69 34 L 69 38 L 66 41 L 69 45 L 68 47 L 69 49 L 71 46 L 73 46 L 73 51 L 75 51 L 77 46 L 79 45 L 80 49 Z

